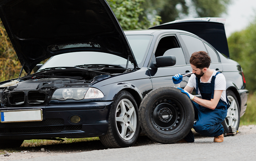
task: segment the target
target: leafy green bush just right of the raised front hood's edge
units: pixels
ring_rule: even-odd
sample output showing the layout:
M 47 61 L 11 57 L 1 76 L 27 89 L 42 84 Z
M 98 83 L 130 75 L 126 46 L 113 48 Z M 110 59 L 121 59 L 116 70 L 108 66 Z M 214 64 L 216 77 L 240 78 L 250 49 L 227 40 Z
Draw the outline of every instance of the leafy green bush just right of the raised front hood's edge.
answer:
M 155 16 L 153 21 L 149 21 L 143 14 L 141 4 L 144 0 L 108 0 L 107 1 L 115 13 L 123 30 L 147 29 L 150 26 L 159 25 L 161 17 Z

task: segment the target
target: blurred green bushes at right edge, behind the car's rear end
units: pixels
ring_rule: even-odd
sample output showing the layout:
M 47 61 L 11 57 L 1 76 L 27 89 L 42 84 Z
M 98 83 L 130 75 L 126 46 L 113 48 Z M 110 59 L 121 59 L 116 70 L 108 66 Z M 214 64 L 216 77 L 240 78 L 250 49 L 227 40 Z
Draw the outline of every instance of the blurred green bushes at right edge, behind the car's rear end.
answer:
M 256 19 L 245 30 L 228 38 L 230 58 L 240 63 L 249 92 L 256 90 Z

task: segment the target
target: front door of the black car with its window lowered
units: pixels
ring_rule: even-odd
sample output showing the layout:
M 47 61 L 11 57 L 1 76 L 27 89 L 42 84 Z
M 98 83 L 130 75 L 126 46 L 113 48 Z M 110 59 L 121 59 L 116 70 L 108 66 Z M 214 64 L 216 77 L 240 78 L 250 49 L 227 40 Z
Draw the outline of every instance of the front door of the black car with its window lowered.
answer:
M 170 67 L 150 68 L 149 74 L 151 77 L 153 89 L 161 86 L 174 86 L 172 76 L 180 73 L 181 75 L 192 72 L 189 64 L 186 48 L 184 44 L 178 39 L 179 34 L 168 34 L 160 36 L 158 43 L 153 51 L 152 61 L 155 57 L 174 55 L 176 57 L 176 64 Z M 152 62 L 151 62 L 152 63 Z M 188 82 L 188 77 L 184 77 L 180 83 L 181 87 L 185 87 Z

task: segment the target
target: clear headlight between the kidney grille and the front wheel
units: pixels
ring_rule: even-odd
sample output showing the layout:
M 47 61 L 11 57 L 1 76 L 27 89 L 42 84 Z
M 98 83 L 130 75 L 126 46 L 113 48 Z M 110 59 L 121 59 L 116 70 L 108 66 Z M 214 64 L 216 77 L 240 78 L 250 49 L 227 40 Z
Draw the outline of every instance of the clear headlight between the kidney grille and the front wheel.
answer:
M 52 100 L 67 99 L 81 100 L 88 98 L 102 98 L 104 94 L 96 88 L 60 88 L 52 94 Z

